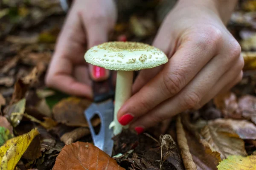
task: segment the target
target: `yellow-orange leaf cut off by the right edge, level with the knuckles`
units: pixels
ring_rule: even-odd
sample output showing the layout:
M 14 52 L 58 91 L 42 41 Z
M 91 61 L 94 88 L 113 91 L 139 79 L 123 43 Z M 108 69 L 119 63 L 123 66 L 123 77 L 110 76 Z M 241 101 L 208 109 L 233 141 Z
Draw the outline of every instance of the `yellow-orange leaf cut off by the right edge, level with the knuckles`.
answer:
M 241 52 L 244 58 L 244 70 L 255 70 L 256 69 L 256 52 L 248 51 Z

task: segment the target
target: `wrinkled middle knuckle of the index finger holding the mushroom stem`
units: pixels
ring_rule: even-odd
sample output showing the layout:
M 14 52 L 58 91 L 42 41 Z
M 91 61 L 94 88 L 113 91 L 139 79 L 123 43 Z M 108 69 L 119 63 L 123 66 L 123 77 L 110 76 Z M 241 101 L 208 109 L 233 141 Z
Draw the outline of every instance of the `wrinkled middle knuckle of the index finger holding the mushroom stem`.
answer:
M 165 74 L 163 77 L 163 84 L 164 84 L 164 93 L 168 93 L 169 95 L 177 94 L 184 85 L 185 77 L 181 74 Z

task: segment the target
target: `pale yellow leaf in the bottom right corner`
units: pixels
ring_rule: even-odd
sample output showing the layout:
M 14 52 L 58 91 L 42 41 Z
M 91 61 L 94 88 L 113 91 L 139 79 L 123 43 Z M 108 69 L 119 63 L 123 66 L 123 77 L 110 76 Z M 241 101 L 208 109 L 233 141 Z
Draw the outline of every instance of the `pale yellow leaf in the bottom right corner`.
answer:
M 229 156 L 227 159 L 221 161 L 217 168 L 218 170 L 255 170 L 256 156 Z

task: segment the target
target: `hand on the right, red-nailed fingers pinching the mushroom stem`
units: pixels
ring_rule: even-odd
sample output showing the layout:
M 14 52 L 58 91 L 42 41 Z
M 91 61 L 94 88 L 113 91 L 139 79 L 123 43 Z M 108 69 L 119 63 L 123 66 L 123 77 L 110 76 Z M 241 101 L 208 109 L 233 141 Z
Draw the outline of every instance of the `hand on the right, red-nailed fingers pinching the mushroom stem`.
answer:
M 241 80 L 240 45 L 214 2 L 180 0 L 167 15 L 153 45 L 169 62 L 140 72 L 134 95 L 119 109 L 122 125 L 131 122 L 141 133 L 186 109 L 200 108 Z

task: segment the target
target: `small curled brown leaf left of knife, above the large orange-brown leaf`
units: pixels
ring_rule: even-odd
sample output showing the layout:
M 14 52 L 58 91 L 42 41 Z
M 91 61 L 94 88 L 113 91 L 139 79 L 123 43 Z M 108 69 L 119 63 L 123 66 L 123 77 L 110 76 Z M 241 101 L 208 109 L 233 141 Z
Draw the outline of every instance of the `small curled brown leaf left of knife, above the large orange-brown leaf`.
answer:
M 71 132 L 67 132 L 64 135 L 62 135 L 61 141 L 64 142 L 65 144 L 71 144 L 88 134 L 90 134 L 90 130 L 87 127 L 78 127 L 72 130 Z

